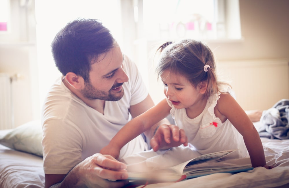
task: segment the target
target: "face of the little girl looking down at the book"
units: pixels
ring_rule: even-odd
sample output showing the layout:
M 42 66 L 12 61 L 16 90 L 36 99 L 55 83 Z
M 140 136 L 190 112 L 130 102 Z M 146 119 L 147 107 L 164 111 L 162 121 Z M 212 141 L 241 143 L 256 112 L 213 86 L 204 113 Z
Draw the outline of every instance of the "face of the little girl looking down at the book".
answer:
M 185 77 L 164 70 L 161 74 L 164 83 L 164 94 L 177 109 L 198 107 L 202 101 L 203 92 L 195 88 Z

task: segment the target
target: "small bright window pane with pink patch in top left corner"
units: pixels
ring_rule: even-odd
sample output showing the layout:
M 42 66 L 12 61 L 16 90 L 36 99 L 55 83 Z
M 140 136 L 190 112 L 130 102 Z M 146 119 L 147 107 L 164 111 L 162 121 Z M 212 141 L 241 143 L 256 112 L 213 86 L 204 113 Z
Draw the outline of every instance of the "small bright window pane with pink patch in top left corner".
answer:
M 1 0 L 0 1 L 0 32 L 8 31 L 9 27 L 9 0 Z

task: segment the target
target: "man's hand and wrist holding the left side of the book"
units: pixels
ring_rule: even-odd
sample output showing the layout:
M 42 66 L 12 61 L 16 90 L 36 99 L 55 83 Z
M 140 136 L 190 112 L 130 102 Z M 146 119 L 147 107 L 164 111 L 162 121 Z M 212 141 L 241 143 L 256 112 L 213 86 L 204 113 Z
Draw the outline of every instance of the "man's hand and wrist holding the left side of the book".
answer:
M 97 153 L 76 165 L 55 187 L 123 187 L 128 183 L 125 169 L 126 165 L 112 156 Z

